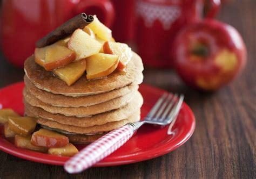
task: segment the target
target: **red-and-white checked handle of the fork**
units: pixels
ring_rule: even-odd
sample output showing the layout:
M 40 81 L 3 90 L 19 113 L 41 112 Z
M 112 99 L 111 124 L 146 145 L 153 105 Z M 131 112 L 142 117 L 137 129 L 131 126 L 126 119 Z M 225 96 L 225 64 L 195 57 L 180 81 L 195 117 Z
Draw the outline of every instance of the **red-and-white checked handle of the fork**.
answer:
M 137 127 L 133 123 L 126 124 L 113 130 L 95 142 L 82 149 L 77 155 L 65 162 L 64 169 L 68 173 L 79 173 L 104 159 L 116 151 L 129 140 L 136 132 Z

